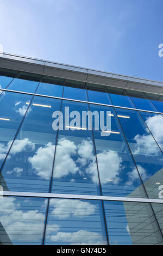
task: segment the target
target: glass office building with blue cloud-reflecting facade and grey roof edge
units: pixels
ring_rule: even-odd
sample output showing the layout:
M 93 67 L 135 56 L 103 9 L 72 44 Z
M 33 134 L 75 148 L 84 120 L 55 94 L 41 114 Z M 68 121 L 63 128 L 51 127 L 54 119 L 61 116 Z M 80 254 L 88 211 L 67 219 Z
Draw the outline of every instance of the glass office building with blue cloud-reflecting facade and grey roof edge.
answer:
M 161 82 L 1 54 L 0 244 L 163 245 L 162 114 Z

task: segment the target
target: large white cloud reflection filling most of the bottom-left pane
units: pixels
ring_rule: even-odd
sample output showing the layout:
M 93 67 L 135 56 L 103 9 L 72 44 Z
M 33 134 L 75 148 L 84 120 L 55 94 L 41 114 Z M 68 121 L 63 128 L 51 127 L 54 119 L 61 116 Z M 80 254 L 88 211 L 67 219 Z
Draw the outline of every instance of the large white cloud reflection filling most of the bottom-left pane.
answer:
M 1 198 L 0 222 L 11 240 L 38 241 L 42 237 L 45 214 L 38 210 L 22 211 L 16 198 Z M 49 225 L 57 232 L 59 225 Z

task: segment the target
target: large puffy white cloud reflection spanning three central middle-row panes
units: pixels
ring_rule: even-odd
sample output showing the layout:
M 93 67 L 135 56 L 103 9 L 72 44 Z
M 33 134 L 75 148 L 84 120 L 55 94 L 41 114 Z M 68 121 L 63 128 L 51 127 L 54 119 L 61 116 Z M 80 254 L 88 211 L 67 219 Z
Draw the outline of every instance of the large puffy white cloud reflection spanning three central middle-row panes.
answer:
M 33 157 L 28 161 L 35 169 L 35 173 L 43 179 L 48 179 L 52 172 L 52 163 L 54 155 L 54 145 L 48 143 L 45 147 L 37 149 Z M 75 161 L 73 156 L 79 156 Z M 99 173 L 101 183 L 106 184 L 108 180 L 113 180 L 117 184 L 118 175 L 121 172 L 122 159 L 115 151 L 102 151 L 97 154 Z M 92 182 L 98 182 L 96 158 L 93 154 L 93 145 L 91 141 L 83 140 L 81 144 L 75 145 L 73 141 L 62 138 L 58 141 L 55 155 L 54 178 L 61 178 L 69 174 L 79 172 L 83 175 L 82 167 L 90 175 Z M 71 179 L 74 181 L 74 179 Z

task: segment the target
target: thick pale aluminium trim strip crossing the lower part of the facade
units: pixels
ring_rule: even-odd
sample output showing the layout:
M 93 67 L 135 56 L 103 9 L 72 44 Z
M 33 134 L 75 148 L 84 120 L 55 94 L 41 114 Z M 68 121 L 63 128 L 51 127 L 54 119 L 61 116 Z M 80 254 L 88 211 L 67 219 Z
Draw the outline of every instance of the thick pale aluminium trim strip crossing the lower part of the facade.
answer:
M 87 200 L 109 200 L 123 202 L 140 202 L 140 203 L 163 203 L 163 199 L 154 198 L 131 198 L 131 197 L 109 197 L 109 196 L 92 196 L 85 194 L 58 194 L 58 193 L 37 193 L 37 192 L 17 192 L 3 191 L 3 196 L 18 197 L 45 197 L 45 198 L 69 198 L 69 199 L 87 199 Z M 1 200 L 1 198 L 0 198 Z

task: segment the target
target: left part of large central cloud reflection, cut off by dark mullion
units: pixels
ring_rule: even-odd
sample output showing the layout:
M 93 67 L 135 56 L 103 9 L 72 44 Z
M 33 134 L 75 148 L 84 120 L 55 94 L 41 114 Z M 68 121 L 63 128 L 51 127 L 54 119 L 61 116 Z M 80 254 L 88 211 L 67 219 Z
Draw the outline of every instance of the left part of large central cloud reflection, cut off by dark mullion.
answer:
M 52 174 L 54 157 L 54 145 L 49 142 L 45 147 L 37 149 L 33 157 L 29 157 L 28 161 L 32 164 L 35 174 L 42 179 L 48 180 Z

